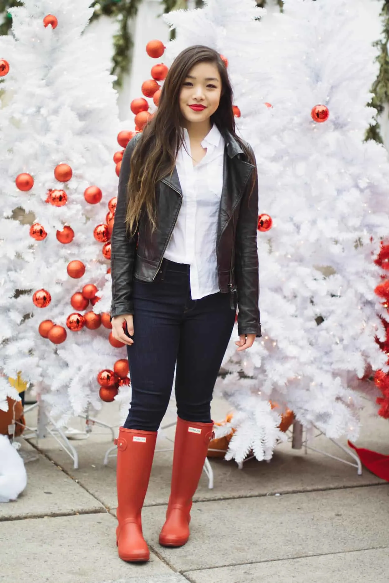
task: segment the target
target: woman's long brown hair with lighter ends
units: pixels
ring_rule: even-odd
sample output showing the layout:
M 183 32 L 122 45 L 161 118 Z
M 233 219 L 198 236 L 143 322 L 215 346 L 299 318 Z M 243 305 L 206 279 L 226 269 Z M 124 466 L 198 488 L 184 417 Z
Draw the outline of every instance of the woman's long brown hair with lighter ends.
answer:
M 174 59 L 162 87 L 159 107 L 152 120 L 143 129 L 143 135 L 138 139 L 131 156 L 125 217 L 131 237 L 138 230 L 143 210 L 146 211 L 152 225 L 152 232 L 156 229 L 155 185 L 161 178 L 173 173 L 177 153 L 184 138 L 182 128 L 185 120 L 180 110 L 180 91 L 190 70 L 199 62 L 216 65 L 222 80 L 219 107 L 211 115 L 211 122 L 216 124 L 222 135 L 226 130 L 229 131 L 240 143 L 248 160 L 253 161 L 246 144 L 235 132 L 232 109 L 233 91 L 226 66 L 220 55 L 212 48 L 203 45 L 185 48 Z

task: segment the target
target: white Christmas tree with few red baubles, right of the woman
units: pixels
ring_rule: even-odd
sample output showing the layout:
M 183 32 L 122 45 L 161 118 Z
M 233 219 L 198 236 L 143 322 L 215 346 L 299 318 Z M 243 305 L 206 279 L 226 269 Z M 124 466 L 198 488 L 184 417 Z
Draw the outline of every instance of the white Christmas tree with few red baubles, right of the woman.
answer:
M 366 103 L 379 9 L 286 0 L 267 15 L 252 0 L 208 0 L 166 16 L 176 29 L 170 59 L 193 44 L 228 59 L 237 128 L 258 166 L 263 336 L 236 353 L 234 329 L 223 361 L 231 374 L 216 387 L 235 412 L 218 434 L 237 429 L 227 459 L 251 449 L 271 458 L 281 434 L 270 402 L 308 430 L 356 438 L 358 379 L 369 366 L 387 370 L 374 258 L 389 235 L 389 165 L 383 146 L 363 142 L 376 114 Z

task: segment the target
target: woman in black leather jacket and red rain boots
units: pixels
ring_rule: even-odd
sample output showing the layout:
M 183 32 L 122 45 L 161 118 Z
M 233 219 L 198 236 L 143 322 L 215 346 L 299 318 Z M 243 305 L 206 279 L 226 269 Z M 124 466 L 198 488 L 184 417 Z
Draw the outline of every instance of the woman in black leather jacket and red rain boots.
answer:
M 132 387 L 115 440 L 117 544 L 125 561 L 149 559 L 141 511 L 176 363 L 165 546 L 189 537 L 192 496 L 213 437 L 212 391 L 237 305 L 237 350 L 261 336 L 257 170 L 253 150 L 235 133 L 232 103 L 219 54 L 187 48 L 171 65 L 156 114 L 122 159 L 111 322 L 114 338 L 127 344 Z

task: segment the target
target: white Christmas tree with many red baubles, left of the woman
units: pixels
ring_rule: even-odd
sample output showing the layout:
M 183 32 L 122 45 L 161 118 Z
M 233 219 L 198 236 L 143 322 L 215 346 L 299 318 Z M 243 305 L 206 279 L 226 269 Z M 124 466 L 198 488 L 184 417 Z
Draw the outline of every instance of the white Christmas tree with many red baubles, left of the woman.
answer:
M 16 396 L 7 377 L 21 371 L 60 425 L 101 407 L 97 374 L 126 356 L 108 342 L 107 314 L 117 94 L 110 54 L 82 35 L 89 5 L 26 0 L 10 9 L 12 34 L 0 37 L 0 407 Z M 33 213 L 34 226 L 12 220 L 17 208 Z M 46 307 L 34 305 L 38 290 L 51 296 Z M 39 295 L 36 303 L 47 298 Z M 47 320 L 55 327 L 40 328 Z

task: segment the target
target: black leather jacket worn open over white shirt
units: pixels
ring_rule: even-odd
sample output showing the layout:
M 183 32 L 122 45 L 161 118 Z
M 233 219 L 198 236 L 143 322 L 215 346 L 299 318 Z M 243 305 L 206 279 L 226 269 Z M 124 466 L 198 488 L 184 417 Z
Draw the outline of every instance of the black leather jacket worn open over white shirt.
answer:
M 171 177 L 162 178 L 156 185 L 158 228 L 151 234 L 148 220 L 141 216 L 138 234 L 128 237 L 125 226 L 126 191 L 131 154 L 138 136 L 141 134 L 134 136 L 128 143 L 120 170 L 111 237 L 111 319 L 120 314 L 134 314 L 133 278 L 145 282 L 155 279 L 183 201 L 177 170 L 174 168 Z M 224 132 L 223 137 L 226 146 L 216 238 L 219 290 L 231 294 L 230 304 L 233 310 L 233 294 L 237 293 L 238 334 L 255 334 L 260 338 L 257 169 L 248 163 L 240 144 L 229 132 Z M 255 184 L 249 196 L 253 172 Z

